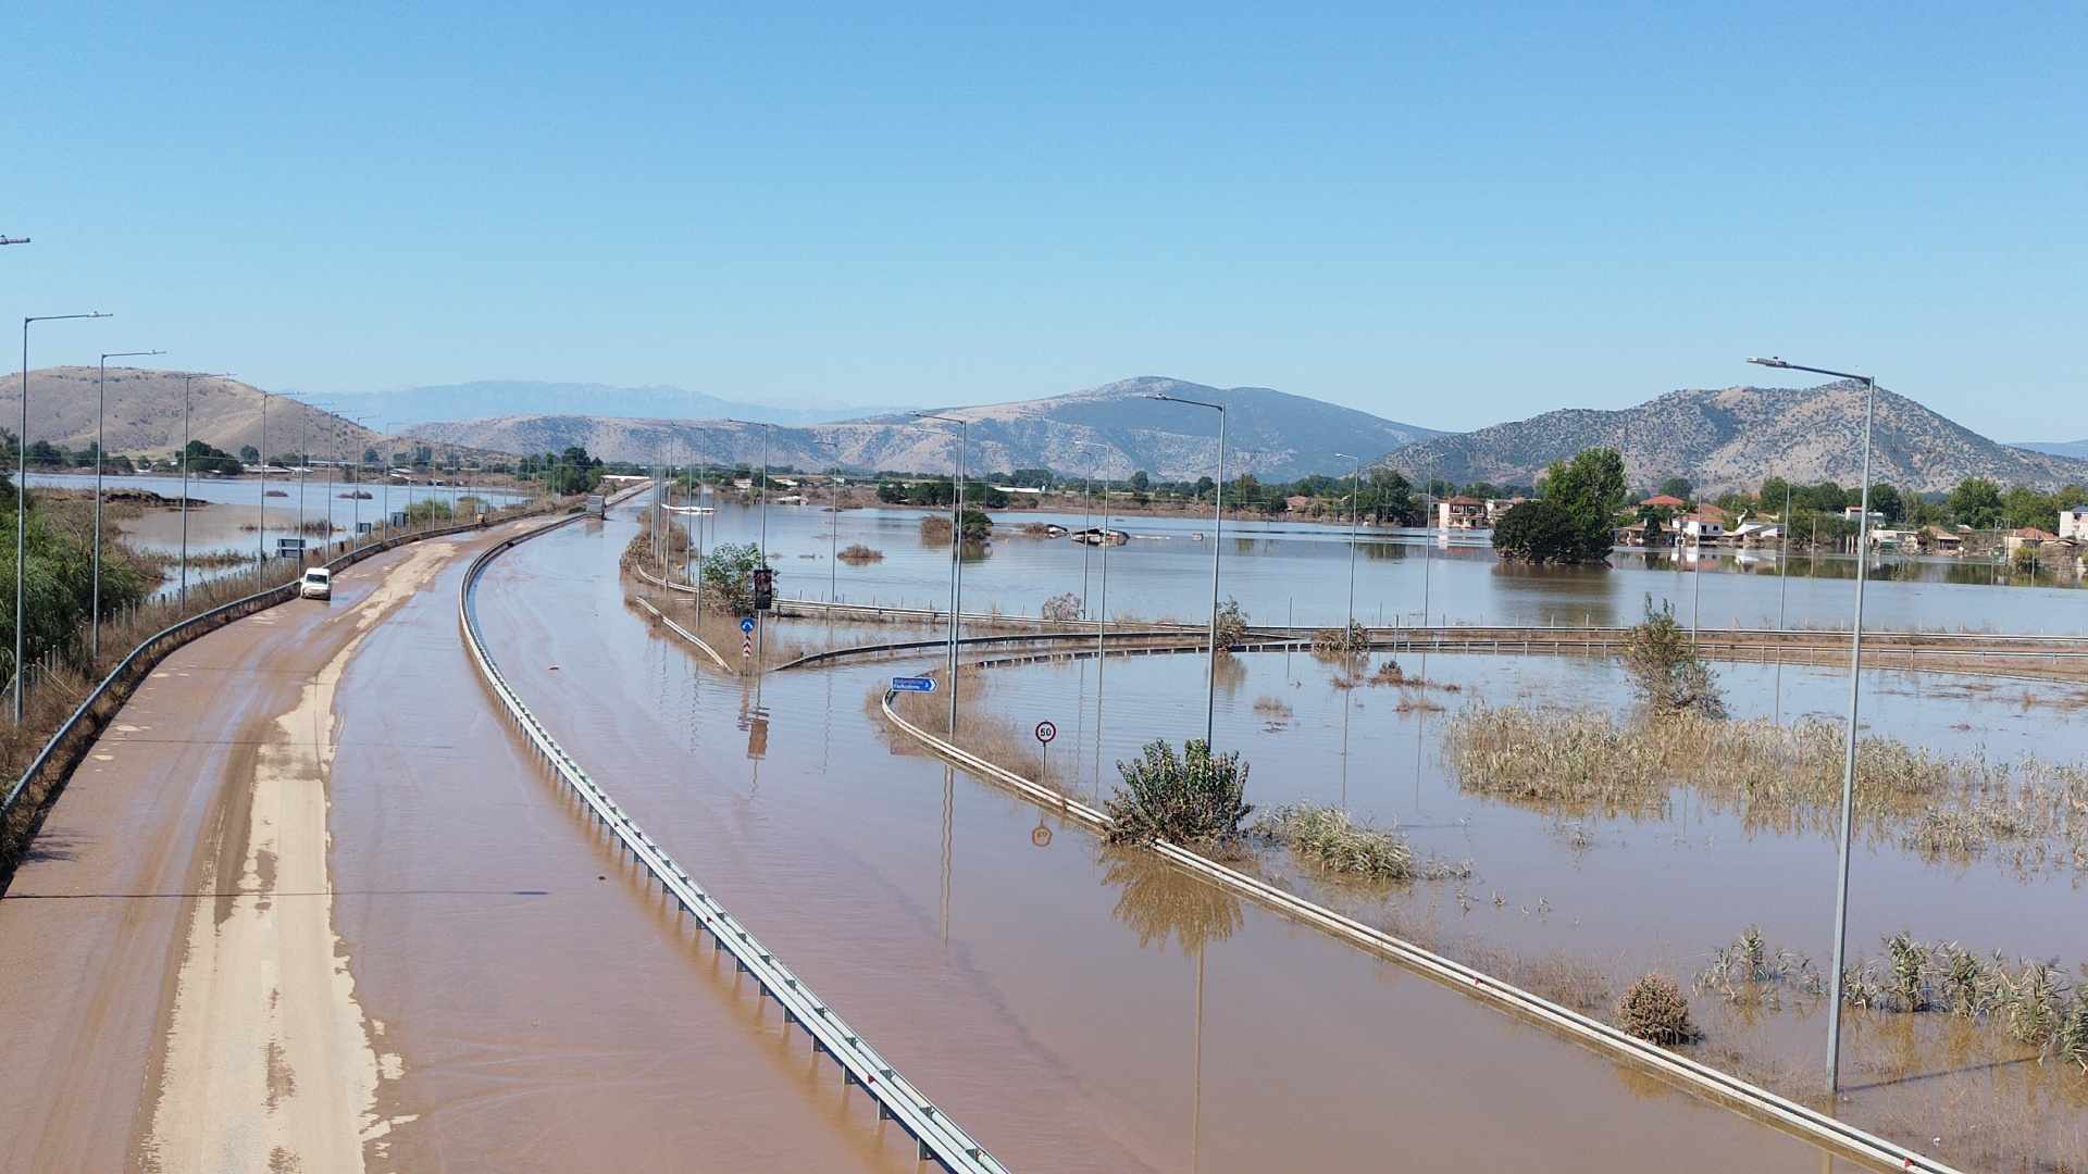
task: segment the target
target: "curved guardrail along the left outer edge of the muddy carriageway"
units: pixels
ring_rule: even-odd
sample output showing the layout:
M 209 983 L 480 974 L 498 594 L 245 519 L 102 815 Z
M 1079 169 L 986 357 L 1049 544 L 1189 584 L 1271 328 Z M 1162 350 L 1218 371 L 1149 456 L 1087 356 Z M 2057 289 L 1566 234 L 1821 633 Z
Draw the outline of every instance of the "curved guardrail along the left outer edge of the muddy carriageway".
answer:
M 524 512 L 518 516 L 528 516 L 528 514 Z M 328 570 L 340 570 L 345 566 L 353 566 L 365 558 L 384 554 L 388 549 L 407 543 L 445 535 L 476 533 L 478 529 L 480 526 L 476 522 L 461 522 L 455 526 L 393 535 L 374 543 L 351 547 L 340 556 L 322 562 L 317 566 L 324 566 Z M 299 572 L 303 572 L 305 566 L 307 566 L 305 562 L 299 562 L 301 568 Z M 138 648 L 132 648 L 123 656 L 123 660 L 119 660 L 115 668 L 111 668 L 109 675 L 102 677 L 100 683 L 96 683 L 86 698 L 81 698 L 81 702 L 73 708 L 73 712 L 63 723 L 58 723 L 58 729 L 52 731 L 50 739 L 44 742 L 44 748 L 38 750 L 35 758 L 29 760 L 21 777 L 17 777 L 15 783 L 8 788 L 6 798 L 0 798 L 0 833 L 4 833 L 4 829 L 15 821 L 17 806 L 23 802 L 25 796 L 29 796 L 35 790 L 35 783 L 44 779 L 46 773 L 50 771 L 69 773 L 79 762 L 79 756 L 86 752 L 92 739 L 100 735 L 100 723 L 106 721 L 109 717 L 109 714 L 96 717 L 98 706 L 115 702 L 111 712 L 115 708 L 121 708 L 121 704 L 129 700 L 129 691 L 138 687 L 138 681 L 142 681 L 144 675 L 150 673 L 152 666 L 157 666 L 175 648 L 182 648 L 184 643 L 203 637 L 211 631 L 217 631 L 219 627 L 232 620 L 274 608 L 276 604 L 290 600 L 294 593 L 296 593 L 296 579 L 290 579 L 276 587 L 265 587 L 261 591 L 255 591 L 253 595 L 240 595 L 238 600 L 219 604 L 207 612 L 196 612 L 194 616 L 175 620 L 159 629 L 157 633 L 144 637 L 138 643 Z M 44 796 L 42 802 L 46 806 L 56 798 L 56 790 L 58 788 L 52 788 Z M 29 838 L 33 838 L 33 825 L 29 827 L 29 831 L 25 831 L 23 844 L 0 842 L 0 890 L 4 890 L 8 879 L 13 879 L 15 850 L 25 846 Z

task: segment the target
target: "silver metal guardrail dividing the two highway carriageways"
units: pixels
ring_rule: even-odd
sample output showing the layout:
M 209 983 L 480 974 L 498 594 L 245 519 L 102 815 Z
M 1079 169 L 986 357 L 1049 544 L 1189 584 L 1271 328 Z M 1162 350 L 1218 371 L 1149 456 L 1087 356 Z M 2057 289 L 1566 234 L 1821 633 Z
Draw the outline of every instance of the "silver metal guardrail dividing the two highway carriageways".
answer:
M 643 487 L 639 487 L 643 489 Z M 478 614 L 472 604 L 472 589 L 478 574 L 516 543 L 547 535 L 566 522 L 553 522 L 526 535 L 516 535 L 489 547 L 472 560 L 464 572 L 464 587 L 457 591 L 457 623 L 464 627 L 464 643 L 478 666 L 478 675 L 499 698 L 516 727 L 528 737 L 530 748 L 557 777 L 587 804 L 589 815 L 606 827 L 620 850 L 645 865 L 645 871 L 660 882 L 662 892 L 672 894 L 683 913 L 689 913 L 710 934 L 714 948 L 733 955 L 741 971 L 754 976 L 762 994 L 783 1007 L 785 1022 L 798 1024 L 812 1036 L 812 1049 L 827 1053 L 841 1067 L 844 1084 L 864 1088 L 877 1101 L 879 1120 L 896 1120 L 915 1138 L 917 1155 L 938 1161 L 950 1172 L 996 1174 L 1006 1170 L 992 1153 L 956 1126 L 933 1101 L 921 1095 L 898 1070 L 892 1067 L 869 1042 L 850 1028 L 841 1015 L 821 1001 L 804 980 L 783 965 L 754 934 L 741 925 L 716 896 L 704 888 L 666 850 L 651 842 L 639 825 L 624 815 L 616 800 L 595 783 L 580 762 L 566 754 L 551 733 L 537 721 L 522 698 L 514 691 L 499 666 L 484 648 L 478 631 Z

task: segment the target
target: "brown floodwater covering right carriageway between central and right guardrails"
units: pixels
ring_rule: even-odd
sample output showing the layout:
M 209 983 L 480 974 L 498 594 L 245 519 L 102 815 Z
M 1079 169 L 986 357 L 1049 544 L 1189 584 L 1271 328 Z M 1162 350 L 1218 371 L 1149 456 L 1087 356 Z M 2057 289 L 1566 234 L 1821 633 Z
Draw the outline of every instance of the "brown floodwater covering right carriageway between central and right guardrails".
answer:
M 1013 1168 L 1833 1168 L 889 744 L 864 702 L 906 662 L 704 673 L 624 606 L 631 533 L 618 512 L 489 570 L 503 673 Z

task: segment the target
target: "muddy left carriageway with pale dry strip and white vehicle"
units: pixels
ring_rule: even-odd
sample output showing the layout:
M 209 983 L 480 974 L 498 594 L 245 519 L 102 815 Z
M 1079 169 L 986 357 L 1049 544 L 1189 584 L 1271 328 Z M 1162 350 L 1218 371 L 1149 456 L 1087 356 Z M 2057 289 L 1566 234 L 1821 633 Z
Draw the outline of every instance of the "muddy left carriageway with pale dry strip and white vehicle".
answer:
M 0 1168 L 915 1168 L 491 719 L 487 541 L 228 625 L 117 714 L 0 900 Z

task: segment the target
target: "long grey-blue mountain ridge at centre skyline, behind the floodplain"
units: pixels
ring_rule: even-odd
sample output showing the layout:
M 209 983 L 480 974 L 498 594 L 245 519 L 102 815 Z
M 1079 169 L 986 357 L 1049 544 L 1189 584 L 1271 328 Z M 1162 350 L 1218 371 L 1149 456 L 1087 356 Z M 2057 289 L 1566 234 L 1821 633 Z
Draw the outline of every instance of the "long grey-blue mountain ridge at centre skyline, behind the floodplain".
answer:
M 1063 474 L 1192 480 L 1215 472 L 1217 414 L 1153 395 L 1224 403 L 1226 476 L 1253 472 L 1292 478 L 1338 472 L 1334 453 L 1378 453 L 1434 437 L 1430 428 L 1382 420 L 1265 386 L 1217 389 L 1176 378 L 1142 376 L 1090 391 L 992 403 L 940 407 L 967 424 L 967 468 L 975 472 L 1050 468 Z M 593 403 L 589 403 L 593 407 Z M 436 422 L 411 428 L 418 437 L 501 451 L 555 451 L 587 445 L 608 460 L 635 462 L 760 462 L 796 468 L 946 470 L 956 462 L 956 430 L 900 414 L 806 426 L 745 428 L 741 424 L 679 418 L 610 418 L 576 414 L 507 414 L 487 420 Z M 766 432 L 766 435 L 764 435 Z

